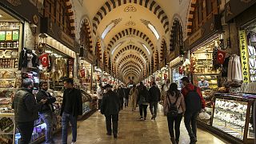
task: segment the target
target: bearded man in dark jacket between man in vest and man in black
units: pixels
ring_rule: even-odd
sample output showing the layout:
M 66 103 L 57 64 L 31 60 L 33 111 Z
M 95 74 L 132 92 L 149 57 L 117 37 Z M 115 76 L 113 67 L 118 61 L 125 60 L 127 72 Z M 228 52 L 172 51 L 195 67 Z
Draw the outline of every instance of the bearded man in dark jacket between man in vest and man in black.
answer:
M 53 140 L 53 118 L 54 118 L 54 106 L 53 103 L 56 98 L 47 92 L 48 86 L 47 82 L 40 82 L 40 90 L 36 96 L 37 102 L 42 99 L 47 99 L 47 102 L 42 105 L 39 109 L 40 118 L 46 123 L 46 144 L 54 143 Z

